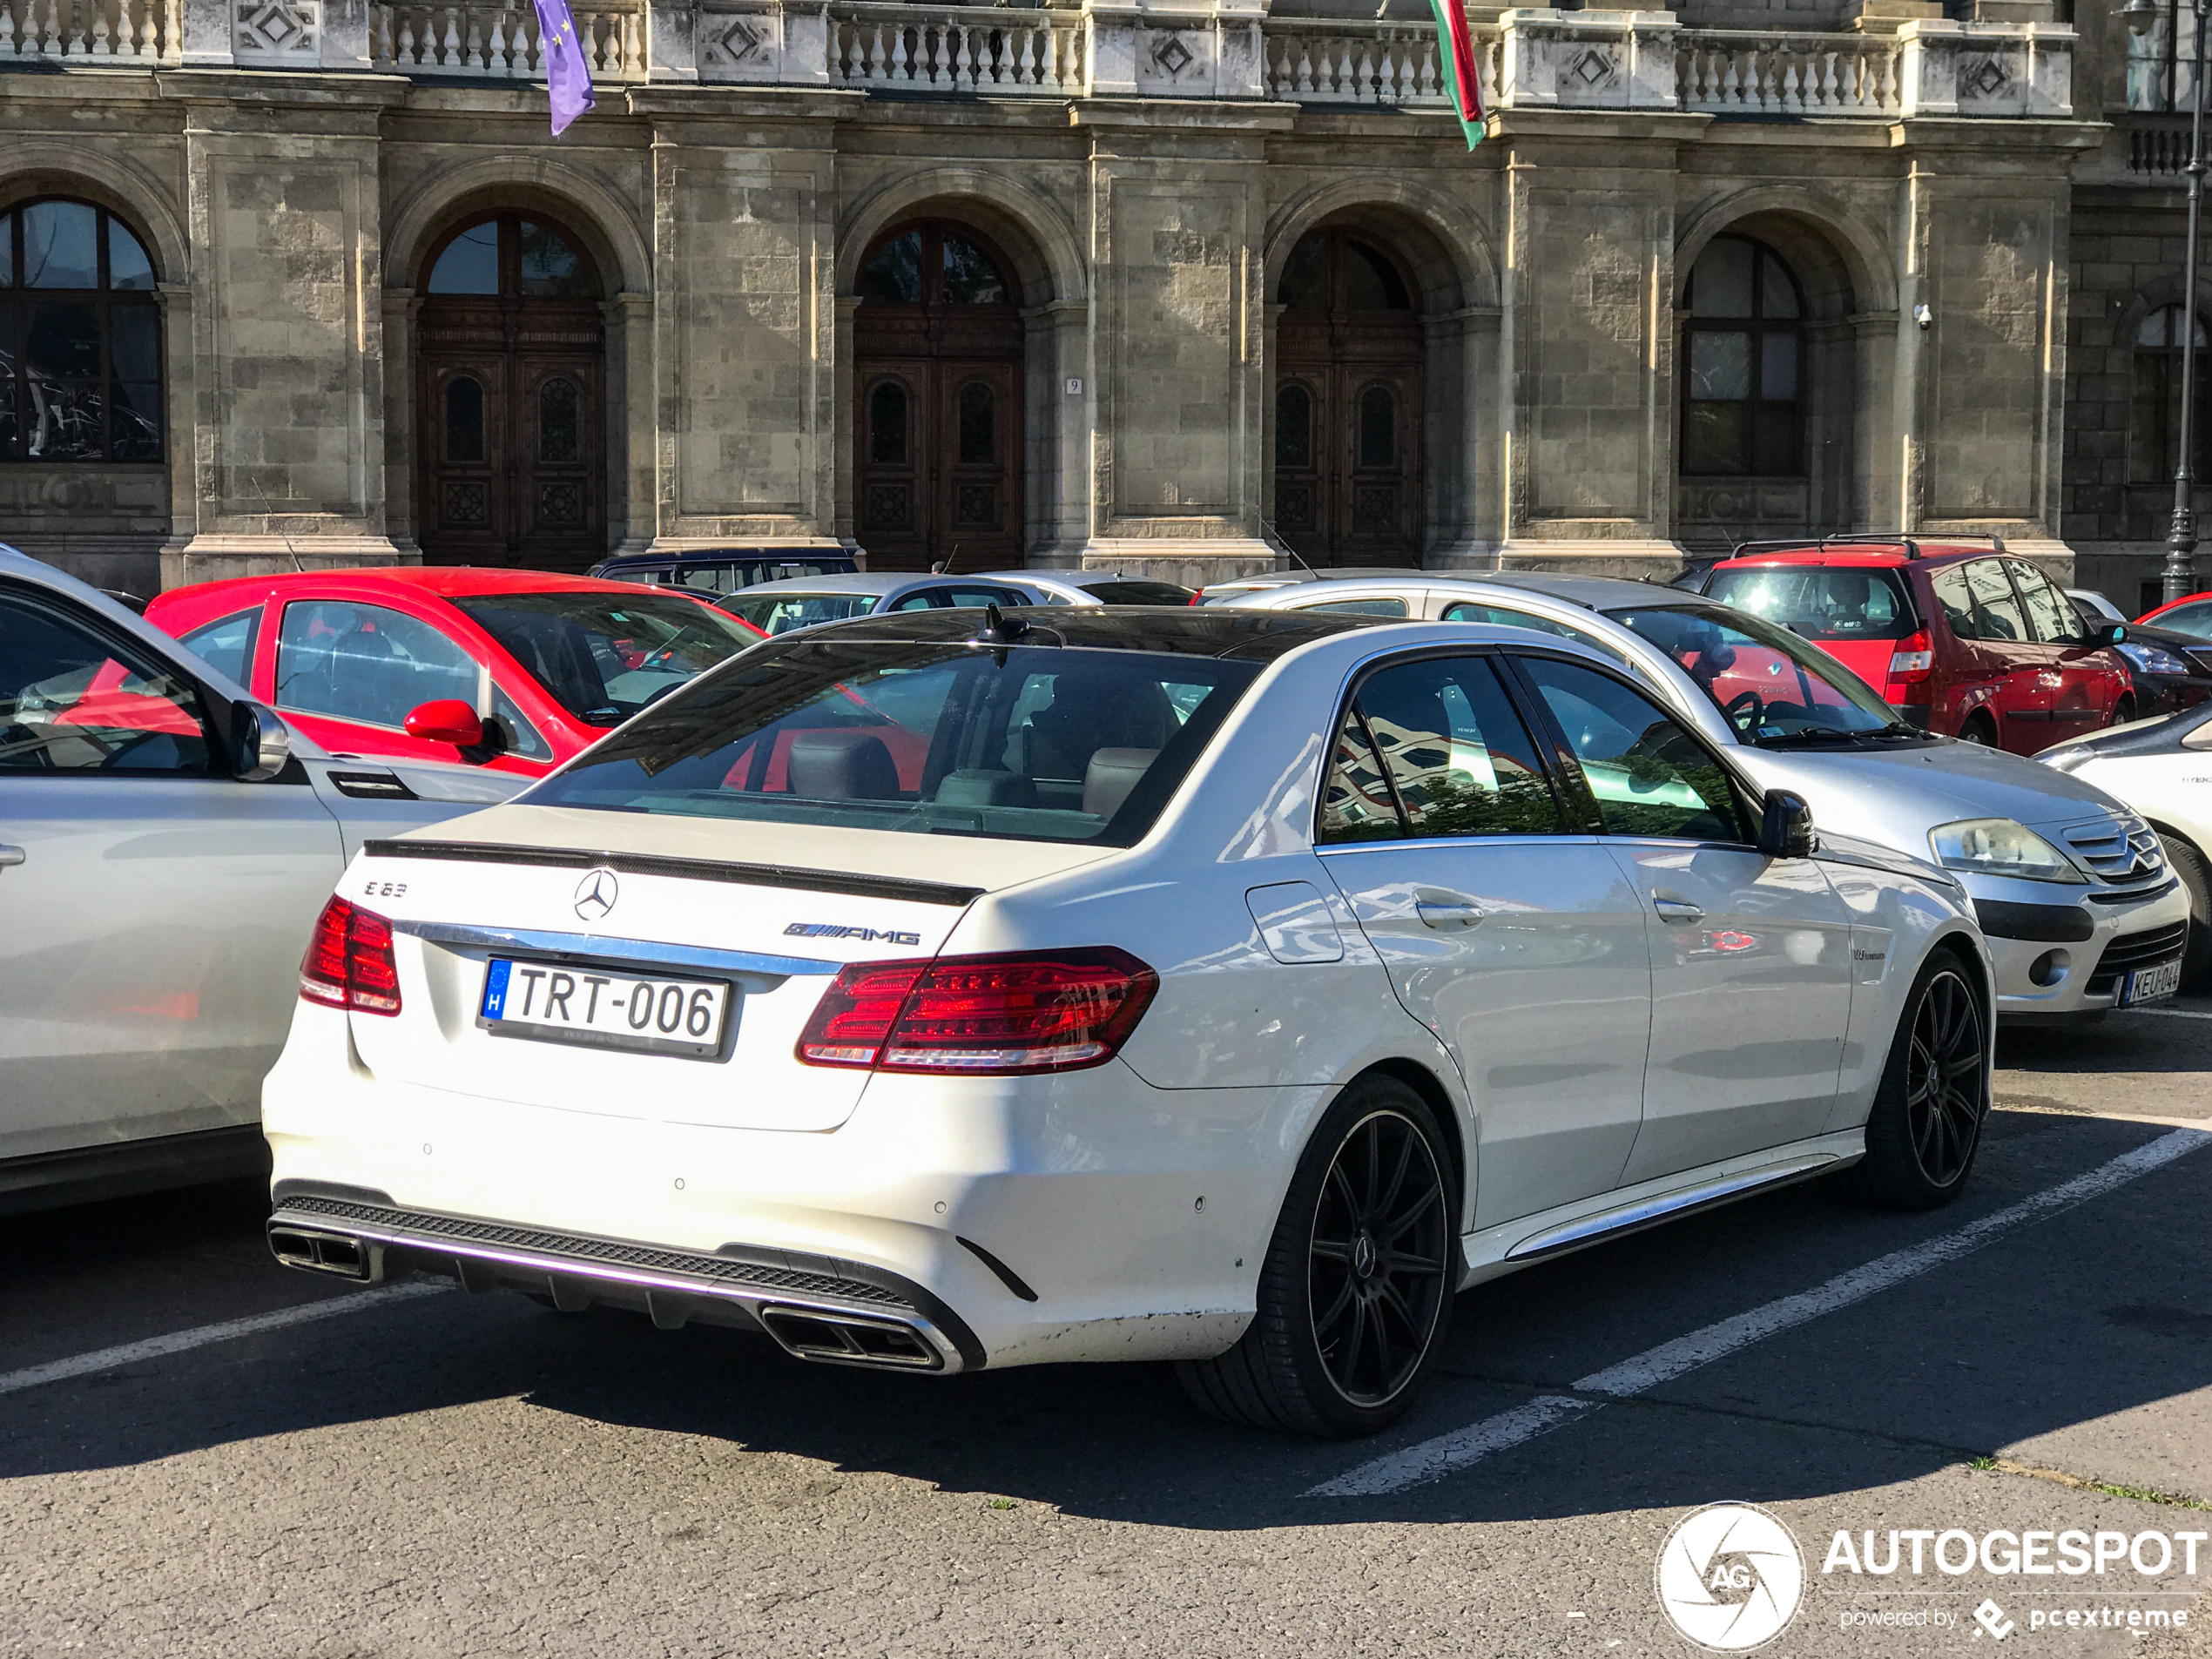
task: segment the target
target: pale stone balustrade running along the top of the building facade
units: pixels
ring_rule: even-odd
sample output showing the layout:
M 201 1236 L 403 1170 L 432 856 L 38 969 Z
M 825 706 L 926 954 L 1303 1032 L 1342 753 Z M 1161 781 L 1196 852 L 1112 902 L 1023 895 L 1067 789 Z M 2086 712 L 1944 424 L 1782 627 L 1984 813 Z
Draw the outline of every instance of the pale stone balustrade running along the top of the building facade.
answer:
M 1172 9 L 1172 7 L 1183 9 Z M 228 20 L 228 38 L 197 29 Z M 969 97 L 1179 97 L 1442 111 L 1427 22 L 1267 15 L 1261 0 L 595 0 L 602 82 L 701 80 Z M 538 82 L 529 4 L 0 0 L 0 62 L 157 69 L 365 66 Z M 365 22 L 365 38 L 363 38 Z M 347 35 L 349 29 L 349 35 Z M 1896 33 L 1683 29 L 1672 11 L 1515 7 L 1475 29 L 1489 111 L 1681 111 L 1721 119 L 2064 117 L 2075 31 L 1918 18 Z M 2143 146 L 2143 170 L 2163 150 Z

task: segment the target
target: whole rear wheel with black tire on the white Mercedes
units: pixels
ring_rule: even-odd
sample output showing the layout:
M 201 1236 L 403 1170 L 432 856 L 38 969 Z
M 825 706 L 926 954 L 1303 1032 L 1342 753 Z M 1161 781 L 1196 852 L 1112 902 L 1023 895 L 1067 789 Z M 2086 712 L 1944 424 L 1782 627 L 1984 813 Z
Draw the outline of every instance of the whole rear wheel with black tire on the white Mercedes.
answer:
M 1298 1159 L 1252 1325 L 1228 1354 L 1179 1363 L 1183 1391 L 1254 1429 L 1347 1440 L 1389 1427 L 1444 1352 L 1458 1214 L 1429 1106 L 1396 1077 L 1356 1079 Z

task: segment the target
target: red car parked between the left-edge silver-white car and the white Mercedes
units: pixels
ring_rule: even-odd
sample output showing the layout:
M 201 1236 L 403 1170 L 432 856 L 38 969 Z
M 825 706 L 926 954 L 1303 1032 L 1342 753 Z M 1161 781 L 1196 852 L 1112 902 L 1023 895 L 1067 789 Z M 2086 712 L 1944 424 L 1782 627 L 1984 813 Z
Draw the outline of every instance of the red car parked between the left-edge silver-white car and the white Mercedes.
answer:
M 418 564 L 201 582 L 146 619 L 336 754 L 529 776 L 763 637 L 633 582 Z

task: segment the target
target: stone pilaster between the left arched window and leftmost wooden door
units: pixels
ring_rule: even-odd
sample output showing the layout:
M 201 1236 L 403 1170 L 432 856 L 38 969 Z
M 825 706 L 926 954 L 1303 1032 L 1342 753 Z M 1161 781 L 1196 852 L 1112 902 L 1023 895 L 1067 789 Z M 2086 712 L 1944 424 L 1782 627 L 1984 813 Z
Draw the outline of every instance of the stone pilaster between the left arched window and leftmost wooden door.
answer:
M 305 564 L 387 564 L 378 104 L 292 119 L 270 144 L 254 73 L 204 82 L 186 115 L 195 535 L 177 580 Z M 358 91 L 356 91 L 358 88 Z M 195 86 L 201 91 L 201 86 Z M 336 97 L 336 93 L 334 93 Z

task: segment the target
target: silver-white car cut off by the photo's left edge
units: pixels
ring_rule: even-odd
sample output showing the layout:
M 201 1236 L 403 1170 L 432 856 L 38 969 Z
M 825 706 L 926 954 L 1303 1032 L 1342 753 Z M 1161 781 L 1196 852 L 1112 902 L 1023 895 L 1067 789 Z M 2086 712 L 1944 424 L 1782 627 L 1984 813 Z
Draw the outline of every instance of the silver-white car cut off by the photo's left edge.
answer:
M 325 754 L 0 546 L 0 1212 L 259 1168 L 261 1077 L 345 863 L 524 783 Z

